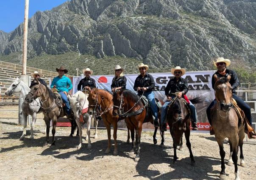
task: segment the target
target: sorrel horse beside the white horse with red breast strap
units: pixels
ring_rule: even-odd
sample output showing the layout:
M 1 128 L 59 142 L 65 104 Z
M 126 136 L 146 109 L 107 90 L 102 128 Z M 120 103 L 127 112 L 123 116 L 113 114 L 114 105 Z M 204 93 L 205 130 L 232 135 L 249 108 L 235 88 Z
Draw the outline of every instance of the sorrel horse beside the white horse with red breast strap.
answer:
M 117 119 L 118 117 L 114 117 L 112 115 L 113 111 L 113 101 L 112 101 L 112 95 L 107 92 L 106 90 L 100 90 L 100 89 L 95 89 L 95 90 L 90 90 L 89 96 L 88 96 L 88 101 L 89 101 L 89 109 L 88 109 L 88 114 L 93 115 L 97 114 L 98 107 L 100 106 L 102 109 L 102 113 L 100 113 L 100 116 L 103 119 L 103 123 L 107 128 L 108 131 L 108 147 L 105 151 L 105 154 L 110 153 L 110 147 L 111 147 L 111 129 L 110 126 L 111 124 L 113 125 L 114 129 L 114 152 L 113 155 L 117 155 Z

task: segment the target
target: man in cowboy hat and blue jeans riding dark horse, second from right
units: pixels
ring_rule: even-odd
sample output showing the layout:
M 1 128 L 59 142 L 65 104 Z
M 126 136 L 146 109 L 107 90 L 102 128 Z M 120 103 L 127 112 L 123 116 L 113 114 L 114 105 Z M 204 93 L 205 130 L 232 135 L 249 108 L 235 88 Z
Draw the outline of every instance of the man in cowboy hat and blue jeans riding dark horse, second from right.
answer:
M 180 66 L 177 66 L 175 68 L 171 69 L 171 73 L 175 76 L 175 78 L 171 79 L 164 92 L 165 95 L 167 96 L 167 101 L 164 103 L 164 105 L 161 108 L 161 131 L 166 131 L 166 113 L 168 106 L 171 103 L 172 98 L 175 97 L 174 93 L 178 92 L 178 98 L 186 98 L 184 95 L 188 92 L 188 82 L 186 79 L 182 78 L 185 74 L 186 70 L 184 68 L 181 68 Z M 185 99 L 186 101 L 189 101 L 187 98 Z M 189 101 L 189 107 L 192 112 L 192 130 L 198 130 L 197 127 L 197 114 L 196 114 L 196 109 L 195 106 Z M 164 123 L 165 122 L 165 123 Z

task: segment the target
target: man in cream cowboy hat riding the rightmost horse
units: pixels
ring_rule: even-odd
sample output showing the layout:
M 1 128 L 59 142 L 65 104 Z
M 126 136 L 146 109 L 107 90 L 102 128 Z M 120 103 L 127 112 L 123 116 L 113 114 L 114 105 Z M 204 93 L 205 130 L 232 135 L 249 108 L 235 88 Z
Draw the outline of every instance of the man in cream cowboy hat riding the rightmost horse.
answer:
M 215 76 L 217 75 L 218 78 L 221 78 L 221 77 L 226 78 L 228 75 L 230 75 L 231 79 L 230 79 L 229 83 L 232 86 L 232 98 L 234 98 L 234 100 L 237 101 L 237 105 L 245 113 L 245 117 L 250 122 L 250 125 L 252 125 L 250 106 L 248 104 L 246 104 L 239 96 L 237 96 L 237 93 L 236 93 L 236 88 L 239 86 L 239 80 L 237 78 L 237 73 L 235 71 L 232 71 L 232 70 L 226 68 L 227 66 L 230 65 L 230 63 L 231 63 L 230 60 L 224 59 L 223 57 L 219 57 L 217 59 L 217 61 L 216 62 L 214 61 L 213 63 L 217 67 L 218 71 L 216 71 L 215 74 L 213 74 L 213 76 L 212 76 L 212 79 L 211 79 L 212 88 L 214 88 L 214 85 L 215 85 L 215 80 L 213 78 L 214 75 Z M 207 114 L 210 125 L 211 125 L 211 108 L 214 106 L 215 103 L 216 103 L 216 99 L 214 99 L 214 101 L 212 101 L 211 104 L 209 105 L 209 107 L 206 109 L 206 114 Z M 210 126 L 210 134 L 211 135 L 214 134 L 214 130 L 213 130 L 212 126 Z M 250 138 L 256 138 L 255 134 L 250 132 Z

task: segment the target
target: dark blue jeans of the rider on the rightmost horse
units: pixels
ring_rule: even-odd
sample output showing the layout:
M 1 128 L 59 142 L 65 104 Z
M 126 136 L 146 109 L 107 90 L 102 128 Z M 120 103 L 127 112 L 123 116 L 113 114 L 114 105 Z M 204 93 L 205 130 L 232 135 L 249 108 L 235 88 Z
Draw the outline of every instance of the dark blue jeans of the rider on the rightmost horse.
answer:
M 234 100 L 237 101 L 237 105 L 245 113 L 245 116 L 248 119 L 250 125 L 252 125 L 252 115 L 250 112 L 250 106 L 247 103 L 245 103 L 245 101 L 243 101 L 236 94 L 233 94 L 232 97 L 234 98 Z M 214 105 L 215 102 L 216 102 L 216 99 L 214 99 L 214 101 L 212 101 L 211 104 L 209 105 L 209 107 L 206 109 L 206 114 L 207 114 L 207 118 L 209 120 L 210 125 L 211 125 L 211 107 Z

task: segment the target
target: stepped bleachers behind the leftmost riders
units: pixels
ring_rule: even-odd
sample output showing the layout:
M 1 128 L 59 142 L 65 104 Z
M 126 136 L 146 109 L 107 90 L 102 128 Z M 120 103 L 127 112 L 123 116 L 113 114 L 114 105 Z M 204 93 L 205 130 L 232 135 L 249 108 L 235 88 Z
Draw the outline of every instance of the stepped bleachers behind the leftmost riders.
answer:
M 49 78 L 53 78 L 58 76 L 57 72 L 47 71 L 38 68 L 32 68 L 27 66 L 27 75 L 30 75 L 34 72 L 42 73 L 42 79 L 45 80 L 47 85 L 49 85 Z M 4 104 L 18 104 L 19 95 L 13 95 L 12 97 L 6 97 L 5 91 L 12 84 L 14 79 L 19 77 L 22 74 L 22 65 L 7 63 L 0 61 L 0 105 Z M 72 77 L 71 75 L 65 75 L 68 77 Z M 32 77 L 31 77 L 32 78 Z

